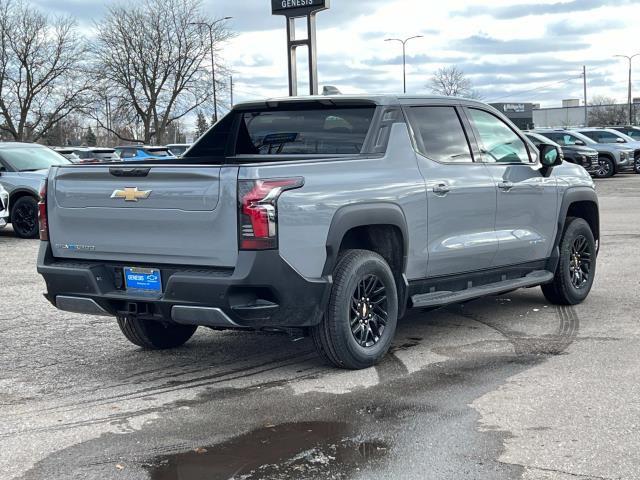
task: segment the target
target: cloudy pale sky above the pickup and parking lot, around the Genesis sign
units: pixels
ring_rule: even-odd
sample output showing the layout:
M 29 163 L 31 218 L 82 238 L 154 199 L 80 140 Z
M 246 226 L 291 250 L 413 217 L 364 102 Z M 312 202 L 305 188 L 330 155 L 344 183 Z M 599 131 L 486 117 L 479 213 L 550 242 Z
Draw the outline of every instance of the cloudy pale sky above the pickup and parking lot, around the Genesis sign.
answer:
M 113 0 L 31 1 L 76 16 L 90 31 Z M 285 20 L 271 16 L 270 4 L 203 0 L 213 16 L 233 17 L 238 36 L 221 55 L 234 71 L 237 100 L 288 93 Z M 455 64 L 485 101 L 555 106 L 582 98 L 586 65 L 589 97 L 622 102 L 628 64 L 613 56 L 640 53 L 639 21 L 640 0 L 331 0 L 331 9 L 318 14 L 320 85 L 343 93 L 399 92 L 401 46 L 384 39 L 421 34 L 408 45 L 411 93 L 428 93 L 433 72 Z M 302 64 L 299 72 L 304 78 Z M 634 72 L 640 96 L 640 57 Z

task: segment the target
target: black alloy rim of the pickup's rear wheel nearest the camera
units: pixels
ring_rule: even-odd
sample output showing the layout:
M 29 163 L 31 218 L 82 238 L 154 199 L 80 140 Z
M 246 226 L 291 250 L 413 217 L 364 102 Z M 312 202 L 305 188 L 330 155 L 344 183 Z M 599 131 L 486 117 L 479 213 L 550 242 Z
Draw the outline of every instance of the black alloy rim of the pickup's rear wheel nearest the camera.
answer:
M 387 291 L 376 275 L 364 277 L 351 296 L 351 333 L 358 345 L 376 345 L 387 326 Z

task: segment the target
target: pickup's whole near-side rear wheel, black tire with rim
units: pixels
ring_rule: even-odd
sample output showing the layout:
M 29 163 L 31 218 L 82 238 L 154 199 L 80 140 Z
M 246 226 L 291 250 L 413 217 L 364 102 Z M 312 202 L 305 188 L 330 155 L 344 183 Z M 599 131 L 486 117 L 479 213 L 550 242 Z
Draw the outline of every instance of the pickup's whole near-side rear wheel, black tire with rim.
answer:
M 396 331 L 398 294 L 393 273 L 377 253 L 347 250 L 338 259 L 333 281 L 323 319 L 311 330 L 316 349 L 340 368 L 371 367 L 385 356 Z M 361 296 L 365 301 L 359 304 Z

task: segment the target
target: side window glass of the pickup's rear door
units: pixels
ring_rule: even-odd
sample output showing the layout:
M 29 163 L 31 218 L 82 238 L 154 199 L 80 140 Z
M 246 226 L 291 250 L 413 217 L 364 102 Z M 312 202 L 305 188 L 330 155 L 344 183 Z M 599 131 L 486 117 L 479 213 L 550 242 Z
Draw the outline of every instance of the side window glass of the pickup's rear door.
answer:
M 420 135 L 421 153 L 445 163 L 473 161 L 467 136 L 454 107 L 413 107 L 410 109 L 413 128 Z

